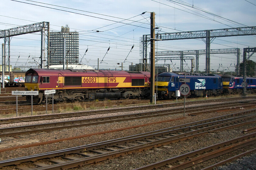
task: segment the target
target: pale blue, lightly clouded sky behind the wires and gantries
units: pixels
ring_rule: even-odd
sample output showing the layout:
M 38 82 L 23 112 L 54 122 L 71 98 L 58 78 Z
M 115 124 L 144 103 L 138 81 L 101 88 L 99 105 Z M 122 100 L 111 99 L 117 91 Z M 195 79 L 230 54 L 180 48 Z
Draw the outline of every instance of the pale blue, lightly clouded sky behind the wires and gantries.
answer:
M 121 68 L 119 66 L 121 66 L 121 63 L 126 59 L 126 57 L 126 61 L 128 62 L 124 63 L 124 70 L 128 69 L 128 65 L 130 65 L 129 62 L 132 62 L 134 64 L 140 62 L 142 58 L 140 53 L 140 37 L 146 34 L 150 34 L 150 13 L 140 15 L 142 12 L 145 11 L 156 13 L 155 24 L 160 27 L 159 30 L 161 31 L 159 33 L 256 26 L 256 20 L 254 18 L 256 16 L 256 2 L 253 0 L 180 1 L 182 3 L 186 2 L 188 3 L 188 5 L 193 5 L 194 8 L 190 8 L 184 5 L 182 5 L 181 7 L 178 4 L 172 3 L 173 1 L 177 2 L 178 0 L 35 1 L 51 5 L 58 5 L 60 7 L 40 4 L 26 0 L 1 0 L 0 29 L 4 30 L 17 26 L 46 21 L 50 22 L 51 31 L 59 32 L 61 30 L 61 26 L 65 26 L 66 24 L 68 24 L 70 31 L 76 30 L 77 32 L 79 32 L 79 62 L 84 56 L 86 49 L 88 48 L 88 51 L 84 56 L 82 63 L 97 68 L 98 58 L 101 61 L 105 56 L 105 58 L 103 59 L 104 63 L 100 64 L 100 69 L 117 68 L 120 70 Z M 25 4 L 21 2 L 30 4 Z M 35 6 L 31 4 L 37 4 L 41 6 Z M 49 9 L 42 6 L 66 10 L 70 12 Z M 62 7 L 72 9 L 65 9 Z M 227 22 L 225 20 L 217 18 L 216 16 L 212 16 L 200 10 L 196 10 L 195 8 L 201 8 L 225 19 L 235 21 L 239 24 L 237 25 L 233 22 Z M 188 11 L 190 13 L 184 11 Z M 197 15 L 204 16 L 201 17 Z M 208 17 L 209 19 L 205 19 L 205 17 Z M 131 18 L 130 20 L 132 21 L 123 21 L 123 19 L 129 18 Z M 126 24 L 117 22 L 123 22 Z M 131 25 L 128 25 L 128 23 Z M 96 32 L 95 30 L 103 32 Z M 256 46 L 255 37 L 256 36 L 234 36 L 216 38 L 212 41 L 210 48 L 240 48 L 240 51 L 242 52 L 243 48 Z M 4 43 L 4 40 L 1 39 L 1 42 Z M 31 66 L 36 65 L 34 59 L 36 61 L 39 61 L 41 48 L 41 36 L 39 32 L 21 36 L 13 36 L 10 45 L 10 64 L 12 66 Z M 133 45 L 134 48 L 130 52 L 130 49 Z M 108 47 L 110 47 L 110 50 L 106 54 Z M 156 42 L 155 51 L 180 51 L 197 49 L 205 49 L 205 43 L 201 39 L 158 41 Z M 149 51 L 150 49 L 148 49 L 148 52 Z M 28 58 L 29 55 L 31 56 L 30 58 Z M 19 59 L 18 56 L 20 56 Z M 255 56 L 256 55 L 254 54 L 253 56 L 251 56 L 250 59 L 256 61 Z M 213 70 L 217 70 L 219 68 L 219 70 L 229 69 L 231 71 L 234 71 L 235 69 L 235 54 L 212 54 L 210 56 L 210 59 L 210 68 Z M 242 54 L 240 55 L 240 62 L 241 61 Z M 203 71 L 205 69 L 204 55 L 200 56 L 199 62 L 199 70 Z M 117 63 L 120 63 L 120 65 L 117 65 Z M 164 62 L 158 62 L 158 64 L 159 63 Z M 170 63 L 171 66 L 175 64 L 173 70 L 179 70 L 177 67 L 180 67 L 180 61 L 174 60 L 172 61 L 172 63 L 170 61 L 165 61 L 165 63 Z M 190 61 L 186 61 L 186 63 L 186 66 L 184 65 L 185 69 L 191 69 Z

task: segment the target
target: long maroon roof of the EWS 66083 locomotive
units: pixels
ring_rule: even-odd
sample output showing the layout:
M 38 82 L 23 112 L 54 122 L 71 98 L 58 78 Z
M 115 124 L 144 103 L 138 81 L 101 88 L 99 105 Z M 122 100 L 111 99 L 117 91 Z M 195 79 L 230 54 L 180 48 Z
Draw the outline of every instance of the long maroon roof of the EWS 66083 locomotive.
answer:
M 67 70 L 62 70 L 62 69 L 34 69 L 31 68 L 27 70 L 26 74 L 28 73 L 37 73 L 38 75 L 41 76 L 50 76 L 54 74 L 62 74 L 63 76 L 67 75 L 74 75 L 76 73 L 89 73 L 92 75 L 114 75 L 114 74 L 119 74 L 119 75 L 130 75 L 130 74 L 146 74 L 150 75 L 149 72 L 143 72 L 143 71 L 113 71 L 113 70 L 79 70 L 79 69 L 67 69 Z

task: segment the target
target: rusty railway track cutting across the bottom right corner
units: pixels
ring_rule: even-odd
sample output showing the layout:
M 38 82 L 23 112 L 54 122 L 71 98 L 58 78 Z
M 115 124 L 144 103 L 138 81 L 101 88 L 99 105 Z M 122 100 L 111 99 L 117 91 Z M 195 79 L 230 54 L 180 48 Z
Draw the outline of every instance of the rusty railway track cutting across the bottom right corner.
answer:
M 172 157 L 172 158 L 169 158 L 169 159 L 166 159 L 163 161 L 155 162 L 150 165 L 136 168 L 134 170 L 151 170 L 151 169 L 160 168 L 160 167 L 164 168 L 165 170 L 184 169 L 184 168 L 188 168 L 190 166 L 196 165 L 197 163 L 207 161 L 209 159 L 215 158 L 217 156 L 223 155 L 230 151 L 234 151 L 236 149 L 239 149 L 241 147 L 244 147 L 244 146 L 247 146 L 250 144 L 254 144 L 254 143 L 256 143 L 256 133 L 248 134 L 248 135 L 234 138 L 234 139 L 224 141 L 224 142 L 221 142 L 218 144 L 214 144 L 214 145 L 211 145 L 211 146 L 208 146 L 205 148 L 201 148 L 201 149 L 198 149 L 195 151 L 188 152 L 186 154 L 182 154 L 182 155 Z M 253 151 L 253 150 L 251 150 L 251 151 Z M 247 151 L 243 154 L 247 154 L 251 151 Z M 194 157 L 194 158 L 192 158 L 192 157 Z M 238 156 L 235 156 L 228 160 L 230 161 L 237 157 Z M 186 161 L 186 162 L 184 162 L 184 161 Z M 221 165 L 225 162 L 227 162 L 227 160 L 221 161 L 215 165 L 208 166 L 207 168 L 204 168 L 204 169 L 212 169 L 214 166 Z M 174 165 L 174 163 L 178 164 L 178 165 Z

